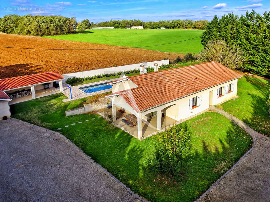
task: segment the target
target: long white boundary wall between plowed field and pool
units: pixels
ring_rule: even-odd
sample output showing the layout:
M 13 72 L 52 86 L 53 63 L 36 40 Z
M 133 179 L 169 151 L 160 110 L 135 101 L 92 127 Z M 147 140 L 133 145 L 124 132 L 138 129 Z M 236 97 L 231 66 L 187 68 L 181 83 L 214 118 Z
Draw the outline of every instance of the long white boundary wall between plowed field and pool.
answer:
M 159 60 L 159 61 L 153 61 L 153 62 L 146 62 L 145 67 L 154 67 L 154 63 L 157 63 L 159 65 L 167 65 L 169 64 L 169 60 Z M 102 69 L 93 69 L 89 71 L 83 71 L 83 72 L 74 72 L 74 73 L 68 73 L 68 74 L 63 74 L 64 76 L 64 81 L 66 81 L 69 77 L 87 77 L 87 76 L 94 76 L 94 75 L 99 75 L 99 74 L 110 74 L 110 73 L 117 73 L 121 72 L 124 70 L 131 70 L 131 69 L 140 69 L 140 64 L 131 64 L 131 65 L 124 65 L 124 66 L 117 66 L 117 67 L 108 67 L 108 68 L 102 68 Z

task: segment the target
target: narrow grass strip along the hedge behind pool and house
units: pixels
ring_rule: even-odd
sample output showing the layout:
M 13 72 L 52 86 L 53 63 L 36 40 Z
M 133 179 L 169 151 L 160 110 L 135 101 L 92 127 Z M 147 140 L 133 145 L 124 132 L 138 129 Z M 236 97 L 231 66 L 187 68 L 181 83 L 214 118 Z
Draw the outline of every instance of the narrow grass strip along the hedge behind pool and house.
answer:
M 183 63 L 183 64 L 178 64 L 175 65 L 173 67 L 170 68 L 164 68 L 164 69 L 158 69 L 158 71 L 161 70 L 165 70 L 165 69 L 172 69 L 172 68 L 176 68 L 176 67 L 184 67 L 184 66 L 188 66 L 188 65 L 195 65 L 198 63 L 202 63 L 202 61 L 198 60 L 198 61 L 192 61 L 192 62 L 187 62 L 187 63 Z M 135 72 L 135 73 L 131 73 L 131 74 L 126 74 L 126 76 L 134 76 L 134 75 L 139 75 L 140 73 Z M 86 80 L 86 81 L 80 81 L 80 82 L 76 82 L 76 83 L 71 83 L 70 85 L 72 86 L 77 86 L 77 85 L 82 85 L 82 84 L 86 84 L 86 83 L 93 83 L 93 82 L 98 82 L 98 81 L 105 81 L 105 80 L 109 80 L 109 79 L 115 79 L 115 78 L 119 78 L 119 75 L 116 76 L 108 76 L 108 77 L 102 77 L 102 78 L 97 78 L 97 79 L 92 79 L 92 80 Z

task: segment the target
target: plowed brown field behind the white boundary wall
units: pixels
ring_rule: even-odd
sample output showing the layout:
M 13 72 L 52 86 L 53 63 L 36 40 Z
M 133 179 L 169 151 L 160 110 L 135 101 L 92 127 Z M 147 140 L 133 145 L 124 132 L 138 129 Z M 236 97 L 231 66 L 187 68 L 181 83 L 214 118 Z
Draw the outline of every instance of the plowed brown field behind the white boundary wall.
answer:
M 0 33 L 0 46 L 53 49 L 123 48 L 104 44 L 47 39 Z M 170 58 L 179 54 L 171 53 Z M 58 70 L 60 73 L 80 72 L 128 64 L 141 60 L 157 61 L 168 53 L 140 48 L 119 50 L 33 50 L 0 48 L 0 78 L 9 78 Z M 139 68 L 139 67 L 138 67 Z

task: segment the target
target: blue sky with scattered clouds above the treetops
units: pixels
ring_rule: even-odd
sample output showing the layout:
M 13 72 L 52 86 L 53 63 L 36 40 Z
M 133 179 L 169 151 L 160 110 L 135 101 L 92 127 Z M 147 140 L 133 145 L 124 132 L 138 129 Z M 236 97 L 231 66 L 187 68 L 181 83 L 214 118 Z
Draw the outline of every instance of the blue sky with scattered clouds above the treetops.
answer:
M 234 12 L 244 14 L 255 9 L 262 14 L 270 11 L 269 0 L 245 1 L 176 1 L 176 0 L 0 0 L 0 16 L 17 15 L 62 15 L 76 17 L 77 22 L 89 19 L 91 22 L 108 20 L 140 19 L 158 21 L 171 19 L 212 20 Z

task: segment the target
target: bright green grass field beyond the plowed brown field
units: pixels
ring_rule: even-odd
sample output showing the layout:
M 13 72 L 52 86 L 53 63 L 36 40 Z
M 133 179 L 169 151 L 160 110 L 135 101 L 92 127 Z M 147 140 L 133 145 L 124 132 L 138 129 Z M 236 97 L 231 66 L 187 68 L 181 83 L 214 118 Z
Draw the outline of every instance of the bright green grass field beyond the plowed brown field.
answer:
M 201 38 L 199 37 L 202 33 L 202 30 L 180 29 L 101 29 L 86 30 L 83 34 L 63 34 L 59 36 L 48 36 L 47 38 L 116 46 L 141 47 L 172 43 L 198 37 L 196 39 L 179 43 L 145 48 L 148 50 L 157 50 L 163 52 L 170 51 L 185 54 L 188 52 L 198 53 L 203 49 L 203 46 L 201 45 Z

